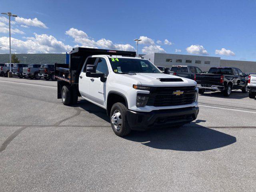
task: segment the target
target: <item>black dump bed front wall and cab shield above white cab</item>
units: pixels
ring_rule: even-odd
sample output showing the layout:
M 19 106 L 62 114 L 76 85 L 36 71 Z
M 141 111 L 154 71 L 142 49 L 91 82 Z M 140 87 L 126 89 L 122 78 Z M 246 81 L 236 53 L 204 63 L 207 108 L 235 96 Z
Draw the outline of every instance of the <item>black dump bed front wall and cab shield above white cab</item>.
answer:
M 78 78 L 84 62 L 88 56 L 91 55 L 122 55 L 122 56 L 136 56 L 136 52 L 131 51 L 118 51 L 118 50 L 105 50 L 105 49 L 92 49 L 77 47 L 69 53 L 69 69 L 70 69 L 70 82 L 78 83 Z

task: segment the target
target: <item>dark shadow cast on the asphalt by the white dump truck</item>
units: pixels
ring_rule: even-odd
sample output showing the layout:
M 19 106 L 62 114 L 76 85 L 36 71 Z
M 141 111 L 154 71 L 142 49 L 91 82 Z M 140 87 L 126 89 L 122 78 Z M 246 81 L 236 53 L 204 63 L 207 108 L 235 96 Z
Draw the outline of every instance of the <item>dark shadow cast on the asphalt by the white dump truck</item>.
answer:
M 110 123 L 106 110 L 86 100 L 80 100 L 79 104 L 73 105 L 73 107 L 83 108 L 85 111 L 95 114 Z M 132 131 L 123 138 L 140 142 L 151 148 L 177 151 L 206 151 L 236 142 L 236 137 L 196 124 L 199 122 L 205 122 L 205 120 L 196 120 L 181 128 L 155 128 L 146 131 Z

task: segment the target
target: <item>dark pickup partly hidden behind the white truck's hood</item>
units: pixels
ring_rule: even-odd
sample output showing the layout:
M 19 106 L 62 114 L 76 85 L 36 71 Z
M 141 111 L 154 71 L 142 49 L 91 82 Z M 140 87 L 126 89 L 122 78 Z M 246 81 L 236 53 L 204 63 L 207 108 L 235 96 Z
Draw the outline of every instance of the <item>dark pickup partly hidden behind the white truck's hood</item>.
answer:
M 195 66 L 172 66 L 170 69 L 171 75 L 185 77 L 194 80 L 196 73 L 203 73 L 200 68 Z

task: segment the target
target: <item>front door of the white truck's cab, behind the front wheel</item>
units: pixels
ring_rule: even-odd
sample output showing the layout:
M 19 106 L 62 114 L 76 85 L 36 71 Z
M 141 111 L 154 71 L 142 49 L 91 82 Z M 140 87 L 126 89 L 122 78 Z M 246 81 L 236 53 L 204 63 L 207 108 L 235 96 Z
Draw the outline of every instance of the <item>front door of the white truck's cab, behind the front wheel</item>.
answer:
M 109 74 L 108 64 L 105 58 L 99 57 L 96 60 L 96 73 L 103 73 L 105 77 Z M 92 101 L 106 107 L 106 82 L 100 78 L 90 78 L 90 95 Z

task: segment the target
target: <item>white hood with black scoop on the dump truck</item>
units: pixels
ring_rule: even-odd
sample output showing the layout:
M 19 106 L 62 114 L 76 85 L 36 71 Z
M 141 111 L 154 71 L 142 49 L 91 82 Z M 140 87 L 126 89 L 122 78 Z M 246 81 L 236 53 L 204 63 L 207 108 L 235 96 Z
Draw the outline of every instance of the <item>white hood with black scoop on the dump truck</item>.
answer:
M 124 79 L 129 82 L 140 82 L 141 85 L 145 86 L 196 86 L 194 80 L 183 78 L 179 76 L 161 74 L 161 73 L 136 73 L 136 75 L 123 74 Z M 176 82 L 162 82 L 159 79 L 182 79 L 183 81 Z M 129 80 L 130 79 L 130 80 Z

